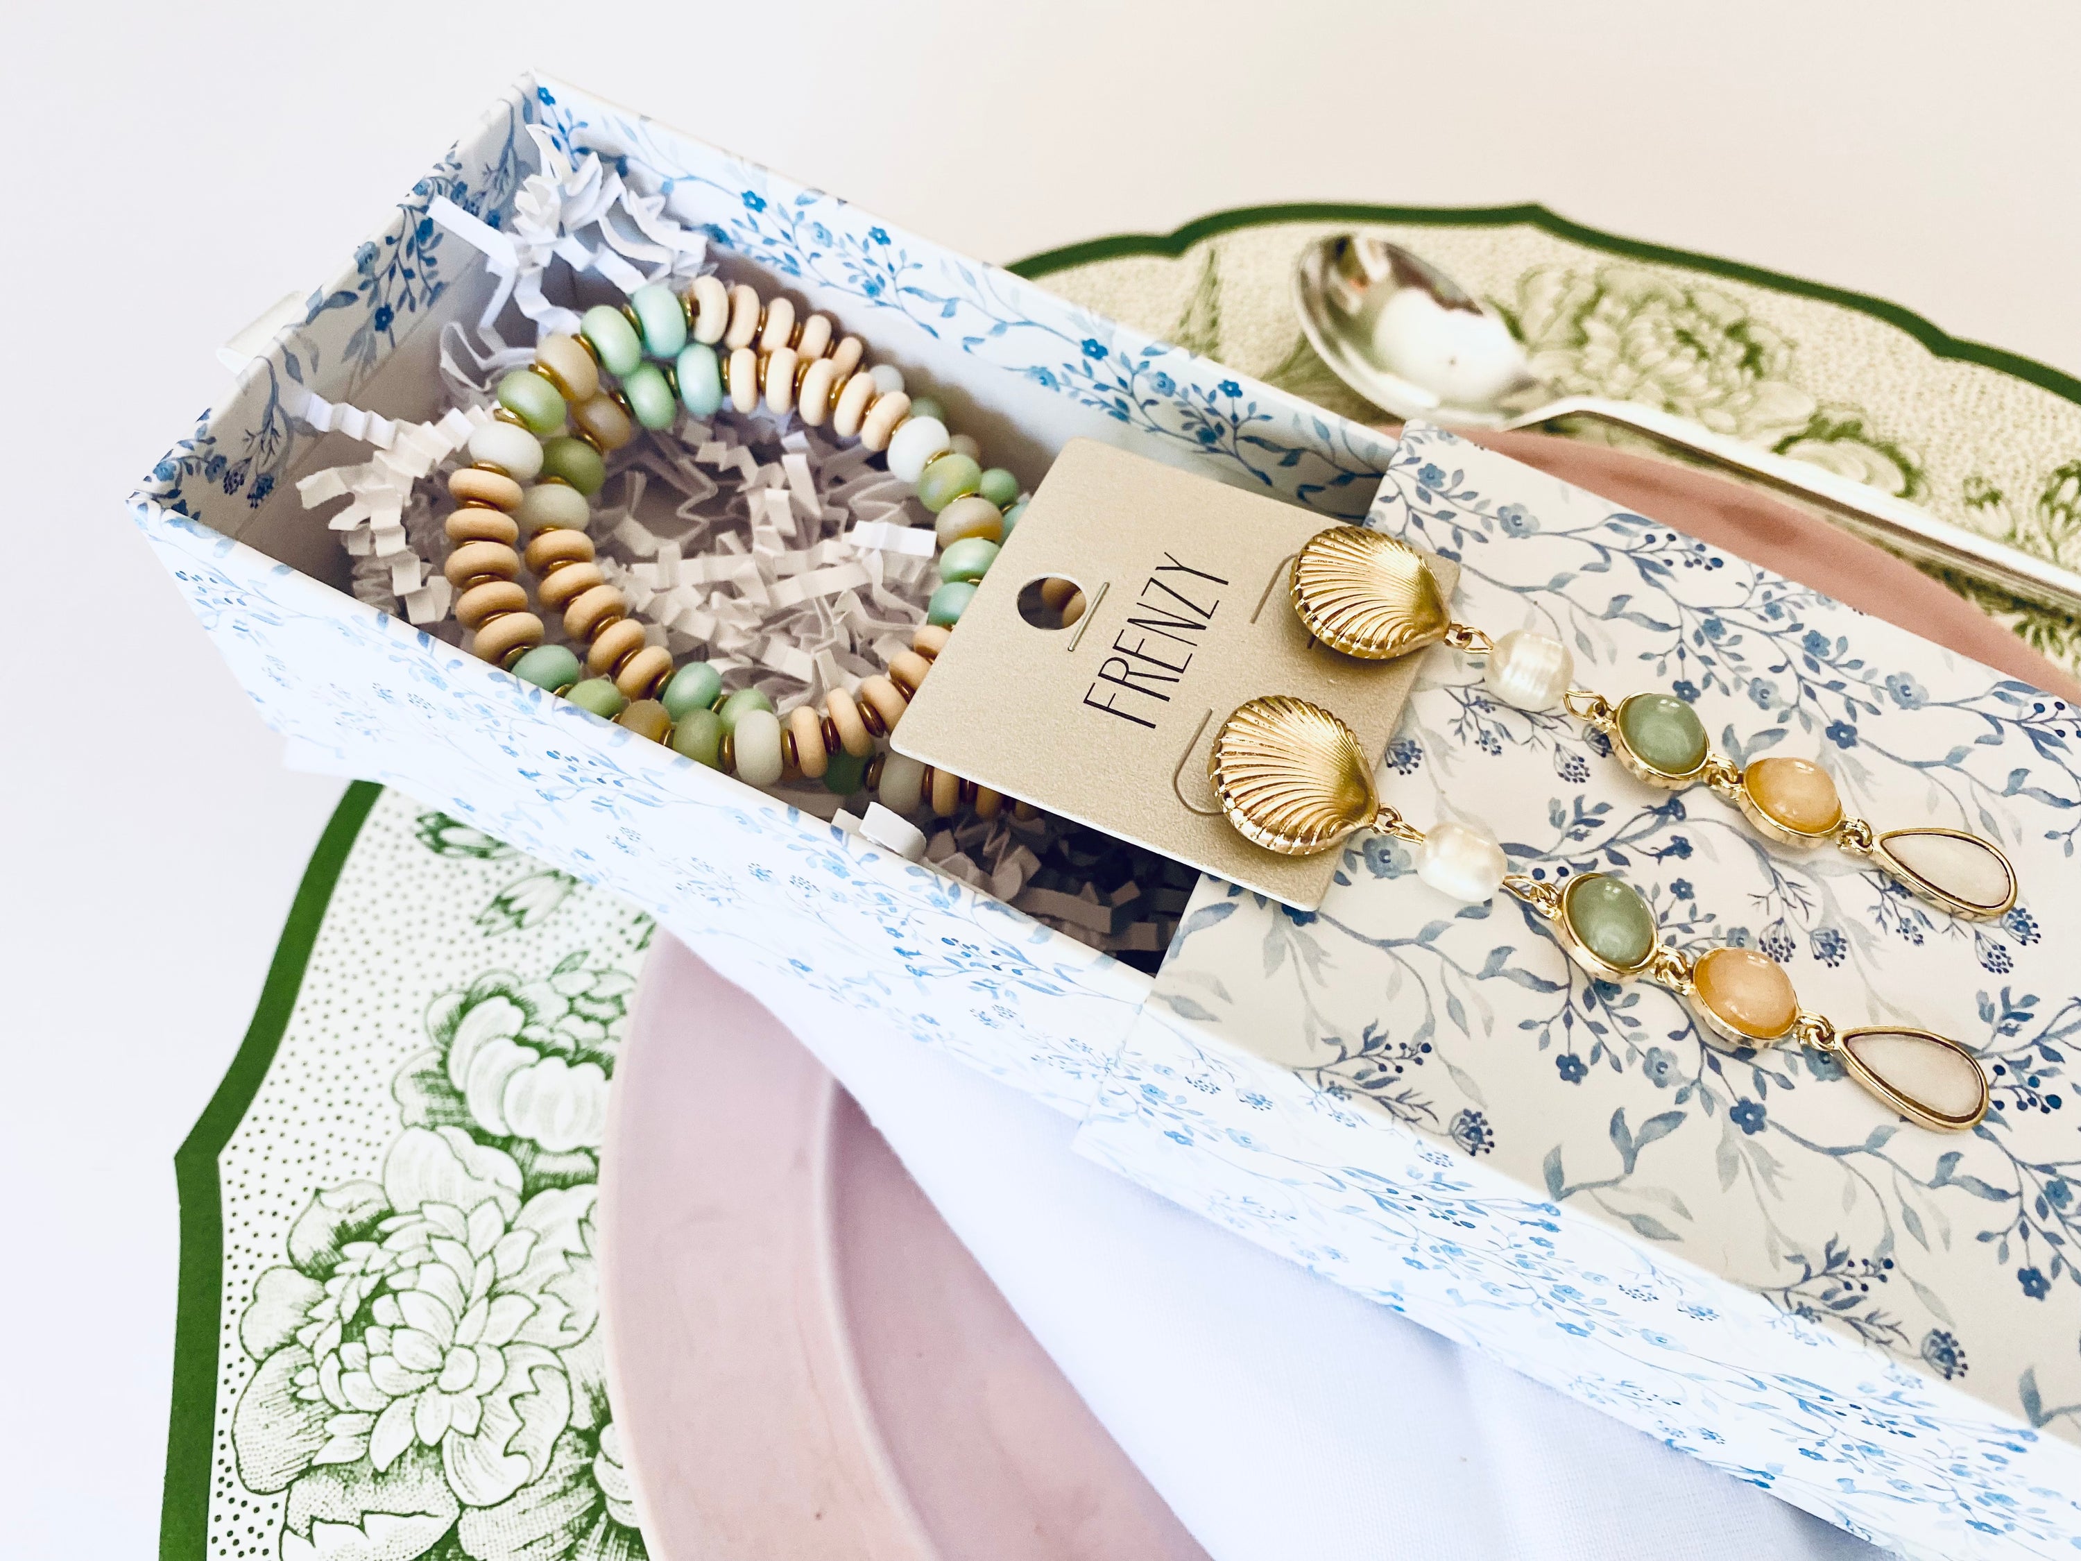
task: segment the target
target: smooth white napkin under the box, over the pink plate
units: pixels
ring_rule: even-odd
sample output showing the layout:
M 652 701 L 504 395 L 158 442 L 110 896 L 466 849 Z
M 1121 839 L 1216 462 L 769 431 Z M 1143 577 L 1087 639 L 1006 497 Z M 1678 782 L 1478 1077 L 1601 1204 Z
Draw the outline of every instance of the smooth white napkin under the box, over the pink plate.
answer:
M 1107 1174 L 957 1061 L 803 1041 L 1215 1561 L 1879 1555 Z

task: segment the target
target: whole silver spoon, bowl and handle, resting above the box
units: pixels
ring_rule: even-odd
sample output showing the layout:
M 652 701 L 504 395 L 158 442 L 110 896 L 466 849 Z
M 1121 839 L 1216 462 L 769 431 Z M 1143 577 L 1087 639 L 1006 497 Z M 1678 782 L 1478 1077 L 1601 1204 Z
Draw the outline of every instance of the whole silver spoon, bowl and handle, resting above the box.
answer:
M 1365 233 L 1309 244 L 1294 262 L 1294 308 L 1332 373 L 1392 416 L 1463 429 L 1530 429 L 1561 416 L 1615 423 L 1819 504 L 1846 531 L 1896 554 L 2081 618 L 2081 574 L 2046 558 L 1686 416 L 1602 395 L 1555 393 L 1532 373 L 1500 316 L 1398 244 Z

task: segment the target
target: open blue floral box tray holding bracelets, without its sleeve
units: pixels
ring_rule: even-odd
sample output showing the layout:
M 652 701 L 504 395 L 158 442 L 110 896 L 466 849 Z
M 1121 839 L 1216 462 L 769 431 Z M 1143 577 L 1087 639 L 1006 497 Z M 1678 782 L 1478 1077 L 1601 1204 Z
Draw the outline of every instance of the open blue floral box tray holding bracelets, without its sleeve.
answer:
M 782 287 L 922 381 L 1026 485 L 1103 439 L 1359 516 L 1392 443 L 1219 364 L 880 223 L 722 150 L 526 79 L 441 158 L 337 279 L 181 439 L 133 516 L 250 689 L 312 762 L 395 785 L 653 912 L 782 1018 L 882 1024 L 1080 1111 L 1147 976 L 926 866 L 493 670 L 348 593 L 296 481 L 368 460 L 312 398 L 439 416 L 441 327 L 497 279 L 429 212 L 499 231 L 537 137 L 597 152 L 641 202 L 705 229 L 726 275 Z M 331 418 L 329 418 L 331 420 Z

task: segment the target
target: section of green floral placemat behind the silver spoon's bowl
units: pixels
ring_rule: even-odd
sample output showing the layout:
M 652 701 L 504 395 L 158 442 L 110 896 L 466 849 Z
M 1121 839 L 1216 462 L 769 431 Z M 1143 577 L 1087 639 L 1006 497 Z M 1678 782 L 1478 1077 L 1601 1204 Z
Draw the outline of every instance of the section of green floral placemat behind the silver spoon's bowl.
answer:
M 1016 271 L 1305 395 L 1382 414 L 1301 335 L 1292 264 L 1363 227 L 1490 302 L 1563 391 L 1646 402 L 2081 568 L 2081 381 L 1877 298 L 1579 227 L 1540 206 L 1278 206 L 1097 239 Z M 1640 443 L 1602 425 L 1579 437 Z M 1952 581 L 2081 670 L 2081 624 Z

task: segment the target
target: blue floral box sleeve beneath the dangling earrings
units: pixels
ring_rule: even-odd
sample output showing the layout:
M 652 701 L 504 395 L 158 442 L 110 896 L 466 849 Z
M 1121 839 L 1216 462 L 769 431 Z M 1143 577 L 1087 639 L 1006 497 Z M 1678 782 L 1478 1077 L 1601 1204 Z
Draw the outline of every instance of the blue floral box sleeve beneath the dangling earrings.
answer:
M 1706 1047 L 1669 993 L 1359 837 L 1315 914 L 1201 882 L 1080 1149 L 1867 1538 L 2081 1546 L 2081 714 L 1438 429 L 1405 431 L 1369 524 L 1459 558 L 1459 618 L 1696 701 L 1738 762 L 1819 758 L 1865 816 L 1996 839 L 2021 903 L 1952 920 L 1650 791 L 1448 651 L 1380 768 L 1513 870 L 1619 872 L 1679 945 L 1956 1037 L 1994 1107 L 1929 1132 L 1821 1053 Z

